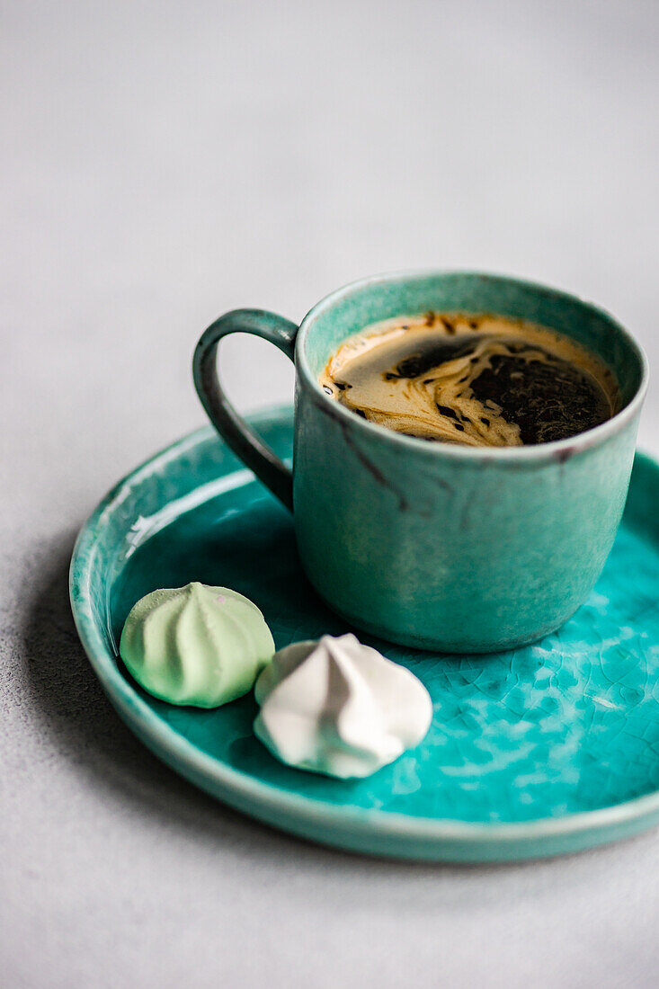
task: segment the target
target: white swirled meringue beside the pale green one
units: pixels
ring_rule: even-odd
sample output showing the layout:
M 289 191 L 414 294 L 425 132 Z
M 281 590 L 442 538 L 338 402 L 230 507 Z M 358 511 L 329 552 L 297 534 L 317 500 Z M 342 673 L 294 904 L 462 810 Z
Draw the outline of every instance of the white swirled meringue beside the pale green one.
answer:
M 432 718 L 421 680 L 354 635 L 280 650 L 255 694 L 254 732 L 277 759 L 341 778 L 393 763 L 419 745 Z

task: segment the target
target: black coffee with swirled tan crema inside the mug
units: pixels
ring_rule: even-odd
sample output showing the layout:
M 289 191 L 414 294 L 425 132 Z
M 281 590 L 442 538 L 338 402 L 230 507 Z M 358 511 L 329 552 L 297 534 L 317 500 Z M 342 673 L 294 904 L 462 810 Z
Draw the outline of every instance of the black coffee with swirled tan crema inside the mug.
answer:
M 620 407 L 612 371 L 595 354 L 556 330 L 489 314 L 368 326 L 332 354 L 319 381 L 371 422 L 462 446 L 566 439 Z

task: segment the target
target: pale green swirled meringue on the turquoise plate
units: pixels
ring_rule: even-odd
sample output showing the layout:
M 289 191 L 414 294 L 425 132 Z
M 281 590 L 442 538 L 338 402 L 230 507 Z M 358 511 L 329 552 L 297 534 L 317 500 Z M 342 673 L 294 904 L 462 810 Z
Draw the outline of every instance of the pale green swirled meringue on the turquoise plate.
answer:
M 274 642 L 248 598 L 195 583 L 142 597 L 126 619 L 119 652 L 154 697 L 219 707 L 250 689 Z

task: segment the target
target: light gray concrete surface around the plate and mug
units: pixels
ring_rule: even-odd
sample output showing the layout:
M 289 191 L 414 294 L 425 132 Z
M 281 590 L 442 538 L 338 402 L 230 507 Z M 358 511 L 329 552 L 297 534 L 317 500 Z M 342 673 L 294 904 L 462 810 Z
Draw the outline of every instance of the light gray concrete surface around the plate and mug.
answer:
M 117 478 L 203 421 L 220 312 L 480 267 L 596 299 L 659 365 L 656 4 L 2 4 L 0 981 L 656 985 L 659 834 L 373 861 L 217 805 L 115 717 L 66 599 Z M 241 407 L 290 395 L 232 340 Z M 641 443 L 659 454 L 651 394 Z

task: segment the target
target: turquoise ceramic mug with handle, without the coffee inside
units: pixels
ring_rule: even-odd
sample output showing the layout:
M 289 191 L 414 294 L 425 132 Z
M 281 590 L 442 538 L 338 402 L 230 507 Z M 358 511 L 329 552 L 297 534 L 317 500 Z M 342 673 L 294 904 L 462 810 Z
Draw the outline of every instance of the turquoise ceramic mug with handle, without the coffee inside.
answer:
M 329 355 L 370 323 L 428 310 L 497 313 L 560 330 L 617 375 L 622 408 L 570 439 L 482 449 L 374 425 L 324 393 Z M 229 333 L 295 363 L 291 472 L 230 405 L 216 370 Z M 194 378 L 211 421 L 293 511 L 312 584 L 350 624 L 442 652 L 510 649 L 552 632 L 597 581 L 624 506 L 647 366 L 610 315 L 573 296 L 465 272 L 368 278 L 333 292 L 301 325 L 259 310 L 206 330 Z

